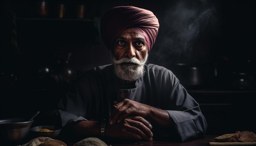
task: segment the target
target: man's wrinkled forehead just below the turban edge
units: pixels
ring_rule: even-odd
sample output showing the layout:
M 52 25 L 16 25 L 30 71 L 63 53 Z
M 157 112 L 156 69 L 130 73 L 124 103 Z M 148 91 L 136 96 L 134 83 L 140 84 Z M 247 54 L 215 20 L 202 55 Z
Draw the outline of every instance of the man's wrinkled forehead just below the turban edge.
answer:
M 133 28 L 125 29 L 117 38 L 140 38 L 144 40 L 144 36 Z

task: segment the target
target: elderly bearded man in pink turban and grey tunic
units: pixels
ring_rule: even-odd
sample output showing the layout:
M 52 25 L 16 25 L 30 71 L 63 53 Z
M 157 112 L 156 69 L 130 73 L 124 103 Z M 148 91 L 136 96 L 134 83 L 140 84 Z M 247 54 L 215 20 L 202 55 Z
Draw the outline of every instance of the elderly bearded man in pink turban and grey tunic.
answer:
M 59 103 L 62 126 L 80 137 L 152 141 L 161 129 L 176 141 L 204 135 L 198 103 L 171 71 L 146 64 L 158 29 L 145 9 L 114 7 L 103 15 L 101 37 L 113 64 L 79 76 L 74 92 Z

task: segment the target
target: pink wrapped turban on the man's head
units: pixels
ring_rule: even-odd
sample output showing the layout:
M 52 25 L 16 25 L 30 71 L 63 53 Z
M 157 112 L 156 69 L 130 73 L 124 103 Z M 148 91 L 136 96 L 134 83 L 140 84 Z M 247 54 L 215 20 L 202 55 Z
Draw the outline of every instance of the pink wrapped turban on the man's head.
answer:
M 109 50 L 119 33 L 127 28 L 134 28 L 141 33 L 150 51 L 159 29 L 155 15 L 151 11 L 132 6 L 120 6 L 108 10 L 101 19 L 101 38 Z

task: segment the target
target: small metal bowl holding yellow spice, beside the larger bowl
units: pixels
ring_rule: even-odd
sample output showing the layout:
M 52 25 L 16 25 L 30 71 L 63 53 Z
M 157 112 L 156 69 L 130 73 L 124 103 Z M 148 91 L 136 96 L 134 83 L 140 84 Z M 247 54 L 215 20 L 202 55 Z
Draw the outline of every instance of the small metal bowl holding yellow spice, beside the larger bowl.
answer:
M 41 129 L 48 129 L 49 132 L 40 132 Z M 36 126 L 31 128 L 31 135 L 33 137 L 50 137 L 56 138 L 61 132 L 61 127 L 52 126 L 52 125 L 45 125 L 45 126 Z

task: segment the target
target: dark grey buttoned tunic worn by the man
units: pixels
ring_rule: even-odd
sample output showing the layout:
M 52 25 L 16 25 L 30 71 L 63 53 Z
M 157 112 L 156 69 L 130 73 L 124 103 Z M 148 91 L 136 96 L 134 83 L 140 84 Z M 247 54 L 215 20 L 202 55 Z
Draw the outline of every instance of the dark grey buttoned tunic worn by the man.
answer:
M 198 103 L 175 75 L 154 64 L 147 64 L 145 69 L 145 75 L 136 82 L 119 79 L 113 65 L 99 66 L 81 74 L 74 91 L 59 103 L 62 125 L 79 120 L 108 119 L 113 102 L 127 98 L 166 110 L 175 123 L 174 129 L 167 129 L 171 138 L 186 141 L 202 137 L 207 128 L 205 118 Z M 152 125 L 153 129 L 160 128 Z

